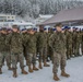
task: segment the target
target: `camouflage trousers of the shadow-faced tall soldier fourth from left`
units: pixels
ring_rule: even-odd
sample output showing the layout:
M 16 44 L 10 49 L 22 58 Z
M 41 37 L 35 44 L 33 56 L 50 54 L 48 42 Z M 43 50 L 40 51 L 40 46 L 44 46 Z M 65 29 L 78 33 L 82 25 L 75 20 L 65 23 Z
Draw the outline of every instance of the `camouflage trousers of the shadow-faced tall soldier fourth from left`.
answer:
M 39 62 L 47 61 L 47 48 L 39 49 Z

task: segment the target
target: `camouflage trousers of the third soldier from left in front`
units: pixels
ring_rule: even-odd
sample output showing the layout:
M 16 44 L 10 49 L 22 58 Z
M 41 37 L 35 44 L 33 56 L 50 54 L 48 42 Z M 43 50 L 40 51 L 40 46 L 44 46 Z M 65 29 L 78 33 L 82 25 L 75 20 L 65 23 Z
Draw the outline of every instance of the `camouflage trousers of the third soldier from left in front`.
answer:
M 26 58 L 26 65 L 31 66 L 31 65 L 36 65 L 36 54 L 27 54 L 27 58 Z

